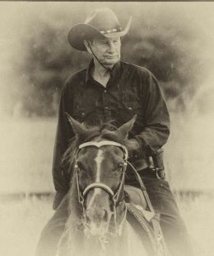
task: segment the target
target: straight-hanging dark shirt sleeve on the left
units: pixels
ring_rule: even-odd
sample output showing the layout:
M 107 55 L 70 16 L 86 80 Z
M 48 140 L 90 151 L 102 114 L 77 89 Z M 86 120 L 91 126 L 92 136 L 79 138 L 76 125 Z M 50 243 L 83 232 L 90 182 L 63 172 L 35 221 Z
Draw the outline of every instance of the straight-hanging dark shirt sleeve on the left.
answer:
M 69 104 L 68 104 L 69 102 Z M 66 112 L 70 115 L 72 106 L 72 98 L 69 97 L 67 87 L 64 86 L 61 92 L 59 109 L 58 109 L 58 126 L 54 144 L 54 159 L 53 159 L 53 180 L 56 192 L 65 193 L 69 189 L 69 179 L 66 178 L 67 172 L 62 163 L 63 154 L 67 150 L 69 140 L 72 139 L 74 133 L 72 127 L 67 121 Z

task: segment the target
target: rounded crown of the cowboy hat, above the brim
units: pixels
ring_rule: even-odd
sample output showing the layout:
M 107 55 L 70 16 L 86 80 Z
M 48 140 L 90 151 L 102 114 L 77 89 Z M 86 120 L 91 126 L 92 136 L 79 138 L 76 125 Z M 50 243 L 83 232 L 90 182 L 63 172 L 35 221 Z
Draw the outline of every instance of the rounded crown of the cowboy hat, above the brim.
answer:
M 122 31 L 118 17 L 109 8 L 95 9 L 86 18 L 86 25 L 94 26 L 98 31 Z

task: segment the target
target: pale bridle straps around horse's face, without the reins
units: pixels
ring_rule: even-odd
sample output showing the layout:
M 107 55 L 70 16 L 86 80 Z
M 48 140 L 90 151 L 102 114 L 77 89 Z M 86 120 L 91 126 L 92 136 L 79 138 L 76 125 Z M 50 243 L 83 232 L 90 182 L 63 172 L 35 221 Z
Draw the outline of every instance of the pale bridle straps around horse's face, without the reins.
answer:
M 78 168 L 78 165 L 77 165 L 77 159 L 78 159 L 78 154 L 79 154 L 80 150 L 84 149 L 86 147 L 89 147 L 89 146 L 94 146 L 96 148 L 100 148 L 100 147 L 105 146 L 105 145 L 112 145 L 112 146 L 118 147 L 119 149 L 121 149 L 123 151 L 123 160 L 124 160 L 123 172 L 122 172 L 122 177 L 120 179 L 119 187 L 118 187 L 117 191 L 114 192 L 112 190 L 112 188 L 105 185 L 105 183 L 91 183 L 81 191 L 80 184 L 79 184 L 79 168 Z M 109 140 L 102 140 L 100 142 L 89 141 L 89 142 L 86 142 L 86 143 L 83 143 L 83 144 L 79 145 L 79 148 L 77 149 L 74 170 L 76 172 L 76 177 L 77 177 L 78 201 L 81 203 L 84 218 L 86 218 L 85 201 L 86 201 L 87 193 L 90 192 L 92 189 L 99 187 L 99 188 L 103 189 L 105 192 L 107 192 L 109 194 L 109 197 L 112 201 L 113 216 L 114 216 L 114 227 L 116 229 L 116 225 L 117 225 L 117 223 L 116 223 L 116 218 L 117 218 L 116 207 L 119 206 L 123 202 L 123 197 L 120 198 L 120 195 L 121 195 L 121 192 L 123 192 L 125 171 L 126 171 L 127 162 L 128 162 L 127 159 L 128 159 L 128 150 L 126 149 L 126 147 L 124 145 L 121 145 L 121 144 L 119 144 L 117 142 L 114 142 L 114 141 L 109 141 Z M 127 209 L 125 207 L 125 212 L 126 211 L 127 211 Z

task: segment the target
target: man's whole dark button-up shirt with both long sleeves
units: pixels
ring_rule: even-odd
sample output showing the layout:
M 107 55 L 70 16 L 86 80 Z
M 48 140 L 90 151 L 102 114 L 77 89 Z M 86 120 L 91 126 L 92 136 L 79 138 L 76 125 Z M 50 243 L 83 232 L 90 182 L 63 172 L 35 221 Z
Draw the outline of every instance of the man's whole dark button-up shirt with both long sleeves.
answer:
M 136 138 L 142 151 L 157 151 L 170 134 L 165 99 L 150 71 L 119 62 L 114 65 L 105 88 L 91 77 L 92 65 L 93 61 L 88 69 L 67 78 L 62 90 L 53 165 L 54 186 L 58 192 L 67 191 L 61 159 L 74 136 L 65 112 L 86 126 L 99 126 L 113 120 L 114 126 L 121 126 L 137 114 L 130 139 Z

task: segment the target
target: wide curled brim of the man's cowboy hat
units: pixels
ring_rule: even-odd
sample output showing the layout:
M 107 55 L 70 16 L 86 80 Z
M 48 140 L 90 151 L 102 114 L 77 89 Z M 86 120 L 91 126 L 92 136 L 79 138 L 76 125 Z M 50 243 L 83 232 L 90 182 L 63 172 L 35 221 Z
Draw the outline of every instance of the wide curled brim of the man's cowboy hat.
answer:
M 100 31 L 97 30 L 94 26 L 80 23 L 71 28 L 71 30 L 68 32 L 67 40 L 73 48 L 77 50 L 86 50 L 86 46 L 84 45 L 83 40 L 91 39 L 96 36 L 104 36 L 107 38 L 125 36 L 131 26 L 131 21 L 132 17 L 129 18 L 127 25 L 122 31 L 106 34 L 100 33 Z

